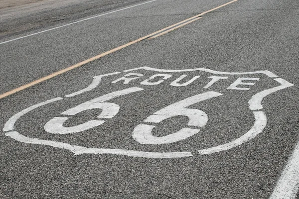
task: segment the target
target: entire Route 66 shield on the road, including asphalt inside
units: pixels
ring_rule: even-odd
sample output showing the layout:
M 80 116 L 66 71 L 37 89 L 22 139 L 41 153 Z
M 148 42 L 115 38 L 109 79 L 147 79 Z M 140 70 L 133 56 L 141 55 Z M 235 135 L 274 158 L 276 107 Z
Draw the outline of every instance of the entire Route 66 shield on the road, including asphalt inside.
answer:
M 27 107 L 10 117 L 3 131 L 17 141 L 67 149 L 75 155 L 180 158 L 211 154 L 260 134 L 267 125 L 263 99 L 291 86 L 269 71 L 141 67 L 96 76 L 80 91 Z M 67 100 L 72 103 L 56 108 Z M 43 110 L 49 105 L 50 112 Z M 94 111 L 93 118 L 82 120 L 80 115 L 86 111 Z M 45 116 L 38 133 L 15 125 L 28 125 L 21 118 L 37 113 Z

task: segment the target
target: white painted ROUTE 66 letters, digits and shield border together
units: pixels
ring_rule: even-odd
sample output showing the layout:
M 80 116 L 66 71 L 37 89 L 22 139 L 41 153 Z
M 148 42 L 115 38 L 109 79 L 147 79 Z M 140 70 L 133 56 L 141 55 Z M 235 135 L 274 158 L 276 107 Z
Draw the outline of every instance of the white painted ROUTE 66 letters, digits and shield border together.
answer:
M 150 77 L 145 77 L 143 72 L 153 73 Z M 197 73 L 189 78 L 188 81 L 184 80 L 187 75 L 186 73 L 192 72 Z M 173 74 L 180 74 L 178 78 L 173 79 Z M 190 85 L 196 84 L 202 74 L 209 74 L 209 77 L 206 78 L 207 84 L 203 85 L 202 88 L 198 89 L 198 93 L 189 97 L 186 97 L 183 100 L 178 100 L 172 104 L 167 105 L 166 107 L 156 110 L 153 114 L 148 115 L 147 118 L 141 119 L 141 123 L 138 124 L 131 136 L 137 143 L 142 145 L 163 145 L 179 142 L 181 140 L 188 139 L 192 136 L 195 136 L 201 128 L 207 125 L 209 119 L 208 113 L 197 108 L 191 108 L 194 104 L 200 103 L 209 103 L 209 100 L 214 98 L 220 98 L 224 95 L 221 92 L 211 91 L 214 85 L 221 83 L 221 81 L 226 81 L 228 78 L 233 77 L 235 81 L 226 88 L 226 90 L 242 91 L 246 92 L 250 90 L 256 82 L 260 81 L 260 78 L 257 77 L 247 77 L 257 75 L 258 77 L 263 76 L 268 78 L 271 81 L 274 81 L 279 86 L 273 88 L 267 88 L 263 91 L 255 93 L 248 101 L 248 107 L 254 115 L 255 121 L 250 130 L 244 132 L 242 136 L 237 139 L 231 140 L 227 143 L 205 148 L 198 149 L 197 154 L 211 154 L 217 153 L 224 150 L 232 149 L 236 146 L 239 146 L 254 137 L 260 134 L 267 124 L 267 117 L 263 111 L 262 100 L 268 95 L 277 92 L 282 89 L 294 86 L 293 84 L 287 82 L 286 80 L 279 78 L 275 74 L 269 71 L 255 71 L 255 72 L 245 72 L 245 73 L 230 73 L 230 72 L 219 72 L 213 71 L 205 68 L 197 69 L 186 69 L 186 70 L 162 70 L 154 69 L 150 67 L 141 67 L 131 70 L 124 71 L 124 74 L 121 72 L 115 72 L 105 75 L 99 75 L 94 77 L 92 83 L 83 90 L 76 91 L 72 94 L 66 95 L 64 97 L 54 98 L 46 100 L 30 107 L 25 108 L 24 110 L 14 114 L 8 119 L 5 123 L 3 131 L 5 135 L 11 137 L 20 142 L 30 143 L 30 144 L 40 144 L 48 145 L 52 147 L 57 147 L 61 149 L 67 149 L 73 152 L 75 155 L 78 154 L 117 154 L 117 155 L 127 155 L 133 157 L 145 157 L 145 158 L 182 158 L 190 157 L 194 155 L 194 152 L 191 151 L 175 151 L 175 152 L 150 152 L 150 151 L 140 151 L 140 150 L 128 150 L 128 149 L 118 149 L 118 148 L 89 148 L 78 145 L 71 145 L 64 142 L 43 140 L 39 138 L 32 138 L 29 136 L 24 136 L 21 132 L 15 129 L 15 122 L 25 114 L 29 114 L 30 111 L 36 108 L 42 108 L 42 106 L 49 103 L 55 103 L 60 100 L 72 98 L 79 95 L 88 95 L 88 92 L 101 87 L 101 82 L 109 76 L 113 80 L 110 82 L 111 85 L 128 85 L 129 88 L 120 89 L 109 94 L 102 95 L 100 97 L 94 98 L 92 100 L 85 101 L 79 105 L 76 105 L 72 108 L 69 108 L 59 116 L 53 117 L 45 125 L 44 130 L 47 133 L 51 134 L 73 134 L 80 133 L 95 127 L 105 124 L 109 119 L 114 118 L 118 115 L 119 111 L 122 109 L 122 106 L 111 102 L 111 100 L 122 98 L 124 96 L 130 96 L 134 93 L 143 92 L 147 88 L 156 87 L 159 88 L 162 84 L 168 84 L 169 87 L 188 87 Z M 121 77 L 120 77 L 121 75 Z M 115 77 L 115 78 L 114 78 Z M 130 87 L 130 84 L 138 83 L 138 86 Z M 202 91 L 200 91 L 202 90 Z M 85 123 L 78 125 L 73 125 L 66 127 L 64 123 L 69 119 L 69 117 L 76 115 L 80 112 L 90 109 L 99 109 L 100 114 L 98 114 L 96 119 L 89 120 Z M 214 113 L 215 114 L 215 113 Z M 185 116 L 188 118 L 188 123 L 184 128 L 181 128 L 177 132 L 168 134 L 165 136 L 154 136 L 152 134 L 153 128 L 162 122 L 163 120 L 175 116 Z

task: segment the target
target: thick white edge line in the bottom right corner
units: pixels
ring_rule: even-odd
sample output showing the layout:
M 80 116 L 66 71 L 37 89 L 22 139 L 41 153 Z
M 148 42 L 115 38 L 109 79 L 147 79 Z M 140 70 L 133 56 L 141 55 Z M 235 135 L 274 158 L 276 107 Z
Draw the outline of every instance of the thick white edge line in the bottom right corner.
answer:
M 299 143 L 280 177 L 270 199 L 295 199 L 299 191 Z

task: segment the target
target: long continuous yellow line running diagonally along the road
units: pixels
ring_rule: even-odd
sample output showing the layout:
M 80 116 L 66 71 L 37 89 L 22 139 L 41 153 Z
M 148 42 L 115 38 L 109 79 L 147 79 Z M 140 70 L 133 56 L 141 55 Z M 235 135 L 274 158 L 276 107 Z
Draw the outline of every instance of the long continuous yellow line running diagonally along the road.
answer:
M 3 94 L 0 95 L 0 99 L 5 98 L 5 97 L 7 97 L 7 96 L 10 96 L 10 95 L 12 95 L 12 94 L 14 94 L 14 93 L 17 93 L 17 92 L 19 92 L 19 91 L 22 91 L 22 90 L 24 90 L 24 89 L 27 89 L 27 88 L 29 88 L 29 87 L 32 87 L 32 86 L 34 86 L 34 85 L 36 85 L 36 84 L 38 84 L 38 83 L 44 82 L 44 81 L 46 81 L 46 80 L 49 80 L 49 79 L 51 79 L 51 78 L 53 78 L 53 77 L 56 77 L 56 76 L 58 76 L 58 75 L 60 75 L 60 74 L 66 73 L 66 72 L 68 72 L 68 71 L 70 71 L 70 70 L 73 70 L 73 69 L 75 69 L 75 68 L 78 68 L 78 67 L 80 67 L 80 66 L 83 66 L 84 64 L 87 64 L 87 63 L 89 63 L 89 62 L 92 62 L 92 61 L 94 61 L 94 60 L 97 60 L 97 59 L 99 59 L 99 58 L 101 58 L 101 57 L 104 57 L 104 56 L 106 56 L 106 55 L 109 55 L 109 54 L 111 54 L 111 53 L 113 53 L 113 52 L 116 52 L 116 51 L 118 51 L 118 50 L 121 50 L 121 49 L 123 49 L 123 48 L 125 48 L 125 47 L 131 46 L 132 44 L 135 44 L 135 43 L 140 42 L 140 41 L 142 41 L 142 40 L 148 39 L 148 38 L 150 38 L 150 37 L 156 35 L 157 33 L 161 33 L 161 32 L 163 32 L 163 31 L 165 31 L 165 30 L 168 31 L 168 29 L 171 29 L 172 27 L 178 26 L 178 25 L 180 25 L 180 24 L 182 24 L 182 23 L 184 23 L 184 22 L 191 21 L 192 19 L 199 18 L 200 16 L 202 16 L 202 15 L 208 13 L 208 12 L 211 12 L 211 11 L 214 11 L 214 10 L 219 9 L 219 8 L 221 8 L 221 7 L 224 7 L 224 6 L 226 6 L 226 5 L 230 4 L 230 3 L 233 3 L 233 2 L 235 2 L 235 1 L 237 1 L 237 0 L 232 0 L 232 1 L 230 1 L 230 2 L 224 3 L 224 4 L 219 5 L 219 6 L 215 7 L 215 8 L 213 8 L 213 9 L 207 10 L 207 11 L 205 11 L 205 12 L 202 12 L 202 13 L 200 13 L 200 14 L 197 14 L 197 15 L 195 15 L 195 16 L 192 16 L 192 17 L 190 17 L 190 18 L 187 18 L 187 19 L 185 19 L 185 20 L 183 20 L 183 21 L 180 21 L 180 22 L 178 22 L 178 23 L 175 23 L 175 24 L 173 24 L 173 25 L 170 25 L 170 26 L 168 26 L 168 27 L 165 27 L 165 28 L 163 28 L 163 29 L 161 29 L 161 30 L 158 30 L 158 31 L 156 31 L 156 32 L 153 32 L 153 33 L 151 33 L 151 34 L 149 34 L 149 35 L 147 35 L 147 36 L 141 37 L 141 38 L 139 38 L 139 39 L 137 39 L 137 40 L 135 40 L 135 41 L 131 41 L 131 42 L 125 44 L 125 45 L 119 46 L 119 47 L 117 47 L 117 48 L 114 48 L 114 49 L 112 49 L 112 50 L 109 50 L 109 51 L 107 51 L 107 52 L 104 52 L 104 53 L 102 53 L 102 54 L 100 54 L 100 55 L 97 55 L 97 56 L 95 56 L 95 57 L 89 58 L 89 59 L 87 59 L 87 60 L 85 60 L 85 61 L 83 61 L 83 62 L 80 62 L 80 63 L 78 63 L 78 64 L 75 64 L 75 65 L 70 66 L 70 67 L 68 67 L 68 68 L 65 68 L 65 69 L 62 69 L 62 70 L 60 70 L 60 71 L 57 71 L 57 72 L 52 73 L 52 74 L 50 74 L 50 75 L 48 75 L 48 76 L 45 76 L 45 77 L 43 77 L 43 78 L 40 78 L 40 79 L 38 79 L 38 80 L 35 80 L 35 81 L 30 82 L 30 83 L 28 83 L 28 84 L 25 84 L 25 85 L 23 85 L 23 86 L 21 86 L 21 87 L 18 87 L 18 88 L 16 88 L 16 89 L 13 89 L 13 90 L 11 90 L 11 91 L 8 91 L 8 92 L 6 92 L 6 93 L 3 93 Z M 165 33 L 166 33 L 166 32 L 165 32 Z

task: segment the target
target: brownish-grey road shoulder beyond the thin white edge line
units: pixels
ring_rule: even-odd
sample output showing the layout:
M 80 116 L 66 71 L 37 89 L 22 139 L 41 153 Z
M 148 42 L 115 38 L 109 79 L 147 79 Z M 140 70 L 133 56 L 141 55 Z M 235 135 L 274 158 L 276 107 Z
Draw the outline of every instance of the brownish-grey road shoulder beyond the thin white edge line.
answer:
M 146 0 L 0 0 L 0 39 L 142 2 Z

